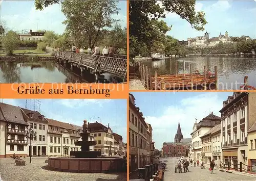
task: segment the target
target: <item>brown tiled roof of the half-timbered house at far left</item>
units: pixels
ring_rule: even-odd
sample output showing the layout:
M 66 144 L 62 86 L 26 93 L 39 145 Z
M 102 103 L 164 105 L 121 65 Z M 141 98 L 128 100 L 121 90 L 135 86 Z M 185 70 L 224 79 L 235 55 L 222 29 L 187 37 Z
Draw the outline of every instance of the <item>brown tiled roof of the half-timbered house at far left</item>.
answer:
M 1 109 L 1 120 L 28 125 L 28 123 L 24 120 L 22 115 L 22 110 L 20 110 L 19 107 L 8 105 L 1 102 L 0 109 Z

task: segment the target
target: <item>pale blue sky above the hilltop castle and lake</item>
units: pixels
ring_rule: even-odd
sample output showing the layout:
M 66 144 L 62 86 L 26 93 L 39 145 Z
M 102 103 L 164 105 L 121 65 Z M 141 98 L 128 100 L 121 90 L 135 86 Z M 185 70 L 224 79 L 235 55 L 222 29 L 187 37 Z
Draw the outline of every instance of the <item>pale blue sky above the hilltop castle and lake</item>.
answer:
M 203 36 L 204 32 L 209 32 L 210 37 L 217 37 L 225 34 L 229 36 L 248 35 L 256 38 L 256 0 L 250 1 L 196 1 L 196 11 L 204 11 L 206 14 L 205 31 L 197 31 L 191 25 L 181 19 L 175 13 L 168 13 L 164 19 L 167 24 L 173 25 L 167 35 L 174 36 L 179 40 Z

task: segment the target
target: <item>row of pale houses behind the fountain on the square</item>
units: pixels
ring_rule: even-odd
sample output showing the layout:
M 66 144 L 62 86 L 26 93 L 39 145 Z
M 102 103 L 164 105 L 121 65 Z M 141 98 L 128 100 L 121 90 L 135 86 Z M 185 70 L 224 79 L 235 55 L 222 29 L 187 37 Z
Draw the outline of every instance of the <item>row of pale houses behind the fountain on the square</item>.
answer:
M 65 156 L 70 151 L 80 150 L 75 142 L 80 141 L 82 127 L 46 118 L 38 111 L 32 111 L 8 104 L 0 104 L 0 158 L 16 156 Z M 90 123 L 89 141 L 96 141 L 90 150 L 103 154 L 125 154 L 127 146 L 122 136 L 113 133 L 110 126 L 99 122 Z M 28 132 L 36 132 L 27 137 Z M 31 144 L 31 147 L 29 145 Z

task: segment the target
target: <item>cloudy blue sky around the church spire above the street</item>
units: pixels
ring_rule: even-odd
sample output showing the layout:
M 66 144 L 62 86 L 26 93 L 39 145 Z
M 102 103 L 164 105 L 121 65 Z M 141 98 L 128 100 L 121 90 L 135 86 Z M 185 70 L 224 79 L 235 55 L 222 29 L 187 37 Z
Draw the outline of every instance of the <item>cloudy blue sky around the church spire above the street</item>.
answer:
M 135 104 L 153 128 L 153 141 L 159 150 L 163 142 L 174 142 L 178 122 L 184 138 L 191 138 L 193 125 L 213 112 L 221 116 L 222 102 L 232 92 L 131 92 Z

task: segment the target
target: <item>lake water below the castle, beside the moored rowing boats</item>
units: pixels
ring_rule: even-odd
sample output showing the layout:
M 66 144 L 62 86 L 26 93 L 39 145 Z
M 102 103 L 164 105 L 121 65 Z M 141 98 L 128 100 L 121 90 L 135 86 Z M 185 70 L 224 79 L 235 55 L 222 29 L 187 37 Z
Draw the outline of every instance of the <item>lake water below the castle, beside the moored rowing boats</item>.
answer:
M 185 61 L 185 73 L 199 70 L 203 73 L 204 66 L 211 73 L 214 67 L 218 69 L 219 90 L 238 90 L 244 84 L 244 76 L 248 75 L 248 85 L 256 88 L 256 57 L 231 57 L 231 56 L 190 56 L 186 58 L 168 58 L 159 61 L 142 62 L 148 68 L 162 74 L 175 74 L 175 64 L 177 61 L 177 72 L 183 73 L 183 61 Z M 171 71 L 172 70 L 172 71 Z

